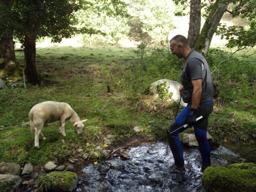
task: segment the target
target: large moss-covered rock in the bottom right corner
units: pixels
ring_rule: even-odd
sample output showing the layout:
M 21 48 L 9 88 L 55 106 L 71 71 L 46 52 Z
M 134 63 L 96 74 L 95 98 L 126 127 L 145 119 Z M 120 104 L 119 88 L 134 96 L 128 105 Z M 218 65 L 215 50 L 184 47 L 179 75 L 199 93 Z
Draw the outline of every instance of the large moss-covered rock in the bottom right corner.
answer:
M 256 191 L 256 164 L 208 167 L 202 176 L 202 185 L 206 191 Z

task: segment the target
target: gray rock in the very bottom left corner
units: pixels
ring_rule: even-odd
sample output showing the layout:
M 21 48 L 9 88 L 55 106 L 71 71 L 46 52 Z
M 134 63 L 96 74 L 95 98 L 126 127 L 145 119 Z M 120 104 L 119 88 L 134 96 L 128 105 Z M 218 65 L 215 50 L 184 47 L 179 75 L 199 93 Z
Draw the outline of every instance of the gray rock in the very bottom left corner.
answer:
M 18 175 L 2 175 L 0 174 L 0 184 L 5 186 L 5 189 L 11 191 L 20 185 L 21 178 Z M 2 190 L 1 190 L 2 191 Z

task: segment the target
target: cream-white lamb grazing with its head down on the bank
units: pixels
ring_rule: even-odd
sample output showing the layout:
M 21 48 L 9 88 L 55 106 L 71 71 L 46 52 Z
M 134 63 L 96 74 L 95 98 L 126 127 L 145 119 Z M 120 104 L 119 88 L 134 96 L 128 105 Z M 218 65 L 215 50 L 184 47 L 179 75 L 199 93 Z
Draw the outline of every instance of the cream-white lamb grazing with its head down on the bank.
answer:
M 76 112 L 64 102 L 55 101 L 44 101 L 36 104 L 29 111 L 30 130 L 35 136 L 35 148 L 39 149 L 39 137 L 45 140 L 41 130 L 43 129 L 44 123 L 53 123 L 60 121 L 59 132 L 65 137 L 65 121 L 68 119 L 74 123 L 74 127 L 77 134 L 81 134 L 83 131 L 84 124 L 87 119 L 80 121 L 80 118 Z M 34 131 L 36 130 L 36 132 Z

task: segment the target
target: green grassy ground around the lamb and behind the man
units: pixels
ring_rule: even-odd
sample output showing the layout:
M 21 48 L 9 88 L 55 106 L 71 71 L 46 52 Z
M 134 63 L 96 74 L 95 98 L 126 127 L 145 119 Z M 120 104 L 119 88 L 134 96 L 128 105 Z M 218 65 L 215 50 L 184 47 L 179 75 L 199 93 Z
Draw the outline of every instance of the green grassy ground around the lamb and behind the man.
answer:
M 4 89 L 0 92 L 0 162 L 45 164 L 74 156 L 78 148 L 95 150 L 108 134 L 115 140 L 140 135 L 152 140 L 165 139 L 168 123 L 174 119 L 178 103 L 167 103 L 148 95 L 148 86 L 167 78 L 179 82 L 182 63 L 165 48 L 154 48 L 139 60 L 125 47 L 49 47 L 36 49 L 36 66 L 48 81 L 40 86 L 26 84 L 27 89 Z M 242 54 L 242 53 L 241 53 Z M 207 60 L 213 70 L 228 52 L 211 49 Z M 24 65 L 24 53 L 16 52 Z M 256 139 L 256 67 L 250 60 L 223 63 L 213 75 L 218 92 L 214 111 L 209 117 L 208 132 L 218 140 L 254 143 Z M 1 77 L 6 82 L 23 82 L 23 77 Z M 51 83 L 49 83 L 49 81 Z M 47 83 L 46 83 L 47 82 Z M 110 87 L 108 92 L 107 86 Z M 52 100 L 67 102 L 80 119 L 88 119 L 82 135 L 66 122 L 66 137 L 58 133 L 59 123 L 44 125 L 46 140 L 34 148 L 28 120 L 37 103 Z M 188 129 L 186 132 L 193 132 Z M 64 142 L 63 142 L 64 139 Z M 86 146 L 89 143 L 89 146 Z

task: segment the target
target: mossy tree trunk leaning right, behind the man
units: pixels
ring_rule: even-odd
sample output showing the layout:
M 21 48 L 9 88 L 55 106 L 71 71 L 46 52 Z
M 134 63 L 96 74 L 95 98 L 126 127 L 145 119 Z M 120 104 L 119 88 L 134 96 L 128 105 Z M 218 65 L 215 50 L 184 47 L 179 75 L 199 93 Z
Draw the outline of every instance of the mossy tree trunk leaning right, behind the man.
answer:
M 225 4 L 222 0 L 217 0 L 213 5 L 211 5 L 211 12 L 204 23 L 194 48 L 196 51 L 201 52 L 204 56 L 206 56 L 208 53 L 212 36 L 215 33 L 225 10 L 228 8 L 229 3 L 230 0 L 226 1 Z

